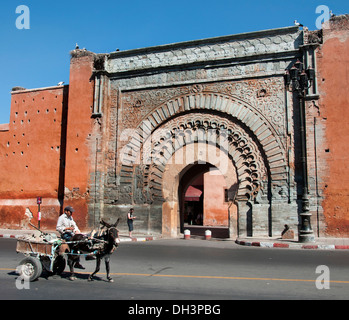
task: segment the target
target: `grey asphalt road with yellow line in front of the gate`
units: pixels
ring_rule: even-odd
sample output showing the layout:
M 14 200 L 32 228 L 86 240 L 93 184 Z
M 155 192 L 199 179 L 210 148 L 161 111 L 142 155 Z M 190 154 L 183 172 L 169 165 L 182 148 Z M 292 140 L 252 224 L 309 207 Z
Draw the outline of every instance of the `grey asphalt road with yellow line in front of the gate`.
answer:
M 15 245 L 15 239 L 0 239 L 2 300 L 212 303 L 235 299 L 349 298 L 349 250 L 254 248 L 238 246 L 232 241 L 205 240 L 129 242 L 121 243 L 112 255 L 113 283 L 106 281 L 104 262 L 99 279 L 88 282 L 87 276 L 93 271 L 95 262 L 82 260 L 86 270 L 77 270 L 75 281 L 68 279 L 66 268 L 61 276 L 43 274 L 37 281 L 29 283 L 28 289 L 19 290 L 15 269 L 23 255 L 16 253 Z M 325 266 L 325 269 L 317 270 L 319 266 Z M 321 285 L 329 288 L 320 289 Z

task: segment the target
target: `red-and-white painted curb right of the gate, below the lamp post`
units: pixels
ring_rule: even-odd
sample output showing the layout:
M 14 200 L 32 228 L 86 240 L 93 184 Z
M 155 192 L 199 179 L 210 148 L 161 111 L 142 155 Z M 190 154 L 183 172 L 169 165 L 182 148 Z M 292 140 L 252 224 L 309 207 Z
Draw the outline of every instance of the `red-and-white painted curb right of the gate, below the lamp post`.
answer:
M 280 242 L 260 242 L 260 241 L 244 241 L 236 239 L 235 243 L 250 247 L 263 248 L 289 248 L 289 249 L 320 249 L 320 250 L 348 250 L 349 245 L 334 245 L 334 244 L 289 244 Z

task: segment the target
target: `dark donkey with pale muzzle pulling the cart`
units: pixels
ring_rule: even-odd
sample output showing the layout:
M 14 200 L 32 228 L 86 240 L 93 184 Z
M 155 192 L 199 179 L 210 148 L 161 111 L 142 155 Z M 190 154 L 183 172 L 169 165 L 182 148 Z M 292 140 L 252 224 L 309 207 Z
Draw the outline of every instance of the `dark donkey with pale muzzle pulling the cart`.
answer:
M 69 251 L 71 253 L 74 252 L 87 252 L 91 255 L 94 255 L 96 257 L 96 269 L 95 271 L 89 275 L 88 281 L 92 281 L 94 275 L 100 270 L 101 260 L 102 258 L 105 259 L 105 268 L 107 270 L 107 280 L 109 282 L 114 282 L 113 279 L 110 277 L 110 255 L 115 251 L 115 249 L 118 247 L 119 243 L 119 231 L 116 229 L 118 223 L 120 221 L 120 218 L 114 223 L 109 224 L 103 220 L 100 221 L 100 224 L 103 225 L 102 229 L 106 227 L 107 229 L 103 231 L 103 233 L 100 236 L 95 237 L 91 241 L 81 241 L 84 238 L 86 238 L 85 235 L 82 234 L 76 234 L 73 236 L 73 238 L 69 242 L 75 242 L 69 244 Z M 96 242 L 98 249 L 96 250 L 95 246 L 91 246 L 91 242 Z M 99 245 L 98 245 L 99 244 Z M 70 268 L 70 280 L 75 280 L 75 273 L 74 273 L 74 264 L 79 261 L 79 255 L 73 255 L 68 254 L 68 265 Z

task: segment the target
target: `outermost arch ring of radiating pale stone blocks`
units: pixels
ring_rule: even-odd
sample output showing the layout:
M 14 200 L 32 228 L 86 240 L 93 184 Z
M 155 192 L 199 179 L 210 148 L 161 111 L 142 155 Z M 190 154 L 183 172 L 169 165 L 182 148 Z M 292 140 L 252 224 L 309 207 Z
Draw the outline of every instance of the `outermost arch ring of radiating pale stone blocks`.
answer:
M 138 125 L 133 138 L 121 154 L 122 163 L 137 163 L 139 151 L 147 137 L 164 123 L 186 112 L 216 112 L 237 120 L 251 132 L 264 151 L 266 162 L 269 164 L 271 187 L 274 193 L 288 190 L 288 165 L 284 141 L 280 138 L 271 120 L 250 103 L 217 92 L 194 92 L 181 95 L 162 103 L 144 117 Z M 138 158 L 137 158 L 138 157 Z

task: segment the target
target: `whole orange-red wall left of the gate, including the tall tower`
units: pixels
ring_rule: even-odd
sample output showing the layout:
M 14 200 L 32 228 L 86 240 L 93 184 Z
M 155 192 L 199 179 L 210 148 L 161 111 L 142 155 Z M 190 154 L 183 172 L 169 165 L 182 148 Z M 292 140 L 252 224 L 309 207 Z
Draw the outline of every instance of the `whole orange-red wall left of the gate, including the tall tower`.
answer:
M 55 230 L 67 205 L 87 228 L 93 63 L 91 53 L 73 56 L 69 87 L 12 92 L 10 122 L 0 125 L 0 227 L 36 225 L 40 196 L 43 229 Z

